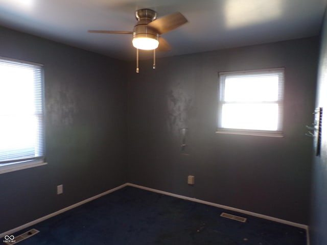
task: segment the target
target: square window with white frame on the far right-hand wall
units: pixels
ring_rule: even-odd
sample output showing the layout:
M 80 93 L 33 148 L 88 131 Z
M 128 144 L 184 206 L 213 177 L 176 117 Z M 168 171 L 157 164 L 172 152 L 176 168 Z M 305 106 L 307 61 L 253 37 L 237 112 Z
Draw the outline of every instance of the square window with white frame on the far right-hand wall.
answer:
M 284 68 L 219 72 L 217 133 L 283 137 Z

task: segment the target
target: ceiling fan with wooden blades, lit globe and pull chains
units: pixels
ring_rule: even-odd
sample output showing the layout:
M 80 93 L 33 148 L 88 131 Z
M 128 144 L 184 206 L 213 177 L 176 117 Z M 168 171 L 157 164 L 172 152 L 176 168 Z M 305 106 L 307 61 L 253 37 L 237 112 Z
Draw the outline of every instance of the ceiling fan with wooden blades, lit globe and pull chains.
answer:
M 139 9 L 135 11 L 137 23 L 132 32 L 129 31 L 100 31 L 89 30 L 90 33 L 108 33 L 108 34 L 131 34 L 133 35 L 133 46 L 136 48 L 136 72 L 138 68 L 138 50 L 153 50 L 153 69 L 155 69 L 155 50 L 169 51 L 171 46 L 162 37 L 161 34 L 170 32 L 188 20 L 179 12 L 166 15 L 157 19 L 157 12 L 151 9 Z

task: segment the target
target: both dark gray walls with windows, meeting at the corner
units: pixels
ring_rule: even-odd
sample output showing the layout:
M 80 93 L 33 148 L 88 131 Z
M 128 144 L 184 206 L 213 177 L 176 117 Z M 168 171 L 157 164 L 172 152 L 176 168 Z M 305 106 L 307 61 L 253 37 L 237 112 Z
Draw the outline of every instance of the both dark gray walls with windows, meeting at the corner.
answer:
M 49 163 L 0 175 L 0 233 L 125 182 L 308 224 L 318 38 L 141 61 L 140 74 L 5 28 L 0 43 L 44 64 Z M 286 67 L 285 138 L 215 134 L 217 72 L 268 67 Z

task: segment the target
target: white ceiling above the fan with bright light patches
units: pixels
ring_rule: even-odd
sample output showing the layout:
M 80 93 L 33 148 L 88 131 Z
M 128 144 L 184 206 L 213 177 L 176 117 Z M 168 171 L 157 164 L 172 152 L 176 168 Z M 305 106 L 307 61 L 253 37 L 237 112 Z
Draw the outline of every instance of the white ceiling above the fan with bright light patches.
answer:
M 157 56 L 198 53 L 319 33 L 327 0 L 0 0 L 0 26 L 122 60 L 135 58 L 135 10 L 158 18 L 181 12 L 189 22 L 162 35 L 172 46 Z M 149 52 L 148 52 L 149 53 Z M 150 55 L 150 54 L 147 54 Z

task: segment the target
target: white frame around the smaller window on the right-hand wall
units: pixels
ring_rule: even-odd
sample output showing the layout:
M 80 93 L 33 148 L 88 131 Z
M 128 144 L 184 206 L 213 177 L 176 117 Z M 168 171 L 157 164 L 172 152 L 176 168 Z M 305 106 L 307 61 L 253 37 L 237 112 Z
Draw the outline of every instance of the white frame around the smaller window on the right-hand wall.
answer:
M 278 123 L 277 130 L 256 130 L 256 129 L 237 129 L 237 128 L 223 128 L 222 127 L 222 106 L 228 102 L 224 101 L 224 87 L 225 79 L 228 76 L 256 76 L 263 74 L 279 74 L 278 79 L 278 99 L 272 103 L 278 104 Z M 270 69 L 256 69 L 256 70 L 243 70 L 243 71 L 228 71 L 218 72 L 218 115 L 217 115 L 217 131 L 218 134 L 238 134 L 238 135 L 253 135 L 253 136 L 266 136 L 266 137 L 284 137 L 283 134 L 283 114 L 284 114 L 284 80 L 285 68 L 270 68 Z M 255 102 L 259 103 L 260 102 Z M 246 104 L 246 103 L 244 103 Z

